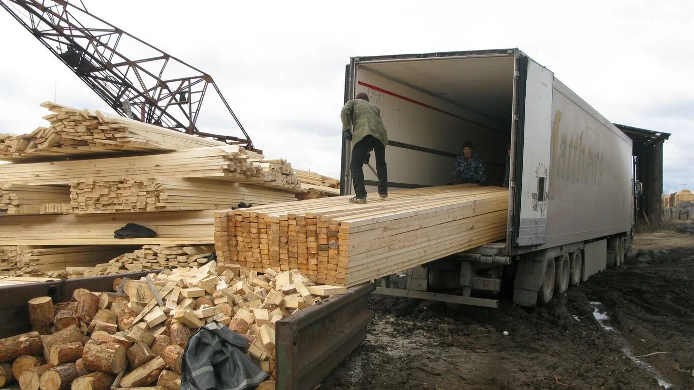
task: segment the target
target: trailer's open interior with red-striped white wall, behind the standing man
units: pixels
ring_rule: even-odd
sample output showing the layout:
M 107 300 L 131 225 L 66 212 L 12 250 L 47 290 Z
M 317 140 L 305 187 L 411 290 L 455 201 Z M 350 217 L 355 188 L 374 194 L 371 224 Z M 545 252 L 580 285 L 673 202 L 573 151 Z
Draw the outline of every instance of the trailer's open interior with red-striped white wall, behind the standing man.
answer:
M 381 109 L 391 187 L 446 184 L 466 139 L 484 160 L 487 183 L 500 184 L 513 80 L 513 56 L 358 62 L 354 94 L 366 92 Z M 370 169 L 364 176 L 376 180 Z

